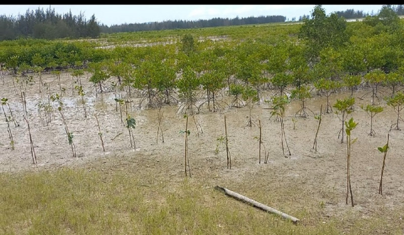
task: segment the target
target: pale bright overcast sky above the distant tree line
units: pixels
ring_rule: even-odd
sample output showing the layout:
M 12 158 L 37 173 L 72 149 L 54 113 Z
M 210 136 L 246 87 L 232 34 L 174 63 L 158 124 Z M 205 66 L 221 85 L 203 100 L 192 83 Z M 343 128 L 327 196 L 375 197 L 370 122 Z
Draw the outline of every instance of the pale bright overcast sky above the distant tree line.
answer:
M 209 20 L 212 18 L 285 16 L 298 20 L 302 15 L 311 15 L 315 5 L 0 5 L 0 15 L 17 17 L 29 9 L 46 10 L 51 6 L 58 14 L 71 10 L 73 15 L 83 13 L 89 20 L 94 14 L 96 21 L 108 26 L 123 23 L 146 23 L 174 20 Z M 354 9 L 375 14 L 383 5 L 322 5 L 326 14 Z

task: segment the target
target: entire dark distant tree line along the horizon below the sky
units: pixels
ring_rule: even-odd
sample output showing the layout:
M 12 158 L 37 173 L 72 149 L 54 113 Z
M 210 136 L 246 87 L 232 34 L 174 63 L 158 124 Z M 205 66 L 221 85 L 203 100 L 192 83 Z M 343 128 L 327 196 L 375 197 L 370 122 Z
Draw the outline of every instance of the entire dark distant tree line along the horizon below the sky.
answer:
M 403 5 L 387 5 L 397 15 L 404 15 Z M 347 9 L 346 11 L 335 12 L 339 17 L 345 19 L 365 18 L 374 16 L 377 13 L 364 13 L 363 11 L 355 11 Z M 310 15 L 303 15 L 297 21 L 310 19 Z M 284 16 L 260 16 L 247 18 L 213 18 L 210 20 L 197 21 L 163 21 L 149 23 L 124 23 L 120 25 L 107 26 L 96 21 L 95 15 L 86 20 L 83 14 L 72 15 L 71 12 L 63 15 L 57 14 L 55 9 L 36 9 L 27 10 L 24 15 L 6 16 L 0 15 L 0 41 L 13 40 L 17 38 L 41 38 L 41 39 L 57 39 L 57 38 L 83 38 L 98 37 L 100 33 L 118 33 L 118 32 L 135 32 L 135 31 L 151 31 L 165 29 L 188 29 L 188 28 L 204 28 L 217 26 L 245 25 L 245 24 L 265 24 L 279 22 L 296 22 L 295 18 L 286 19 Z

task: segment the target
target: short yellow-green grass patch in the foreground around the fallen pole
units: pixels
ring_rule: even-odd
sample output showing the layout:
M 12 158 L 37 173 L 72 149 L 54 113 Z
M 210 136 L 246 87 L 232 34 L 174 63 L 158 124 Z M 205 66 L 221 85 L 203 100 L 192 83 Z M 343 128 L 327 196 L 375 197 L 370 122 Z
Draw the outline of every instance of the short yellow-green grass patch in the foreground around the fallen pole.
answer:
M 301 221 L 293 224 L 277 215 L 206 188 L 206 179 L 163 177 L 155 170 L 133 167 L 108 170 L 61 168 L 54 171 L 0 174 L 0 233 L 2 234 L 371 234 L 385 229 L 383 217 L 322 220 L 318 202 L 301 201 L 276 208 Z M 174 182 L 173 182 L 174 181 Z M 212 182 L 214 183 L 214 182 Z M 240 184 L 244 187 L 243 184 Z M 276 187 L 275 187 L 276 188 Z M 245 196 L 274 205 L 296 194 L 291 186 L 273 195 L 242 188 Z M 274 196 L 278 195 L 278 197 Z M 310 200 L 309 200 L 310 201 Z M 297 204 L 296 204 L 297 203 Z M 272 206 L 272 205 L 269 205 Z M 297 210 L 296 210 L 297 211 Z M 323 223 L 323 221 L 326 221 Z M 372 225 L 372 226 L 369 226 Z M 401 223 L 402 225 L 402 223 Z M 363 233 L 365 231 L 365 233 Z

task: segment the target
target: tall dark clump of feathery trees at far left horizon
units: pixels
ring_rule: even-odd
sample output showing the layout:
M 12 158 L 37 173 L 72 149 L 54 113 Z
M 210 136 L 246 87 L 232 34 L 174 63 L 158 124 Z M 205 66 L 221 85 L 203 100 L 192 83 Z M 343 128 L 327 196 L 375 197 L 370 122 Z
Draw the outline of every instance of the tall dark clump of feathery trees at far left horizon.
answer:
M 80 13 L 78 16 L 72 12 L 64 15 L 57 14 L 55 9 L 29 9 L 24 15 L 0 16 L 0 40 L 13 40 L 17 38 L 81 38 L 98 37 L 99 25 L 92 15 L 86 20 Z

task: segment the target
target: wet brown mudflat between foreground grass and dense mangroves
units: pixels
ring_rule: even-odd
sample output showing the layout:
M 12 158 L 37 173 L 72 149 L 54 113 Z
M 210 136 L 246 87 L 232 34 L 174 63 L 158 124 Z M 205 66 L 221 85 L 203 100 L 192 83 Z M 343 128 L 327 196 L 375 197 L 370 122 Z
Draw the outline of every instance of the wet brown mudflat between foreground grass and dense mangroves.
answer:
M 84 76 L 85 77 L 85 76 Z M 36 78 L 36 77 L 35 77 Z M 59 92 L 59 85 L 53 75 L 43 75 L 46 82 L 51 82 L 52 91 Z M 82 81 L 87 80 L 83 78 Z M 84 83 L 83 83 L 84 84 Z M 131 150 L 128 131 L 121 125 L 120 113 L 116 112 L 115 95 L 110 93 L 99 94 L 98 101 L 95 99 L 91 84 L 84 84 L 87 102 L 87 118 L 77 93 L 72 96 L 71 76 L 62 75 L 62 87 L 66 90 L 62 100 L 66 104 L 65 116 L 76 145 L 78 157 L 73 158 L 67 136 L 62 125 L 61 116 L 56 110 L 52 113 L 52 122 L 47 128 L 44 121 L 44 113 L 38 112 L 36 104 L 39 100 L 46 101 L 45 89 L 38 92 L 39 84 L 28 86 L 26 100 L 28 119 L 31 126 L 32 139 L 37 156 L 37 165 L 32 164 L 28 128 L 23 119 L 23 104 L 20 94 L 14 92 L 10 76 L 6 76 L 5 84 L 0 81 L 0 96 L 9 98 L 13 114 L 20 124 L 11 125 L 11 131 L 15 140 L 15 150 L 11 149 L 3 111 L 0 113 L 0 172 L 17 172 L 23 170 L 42 170 L 60 166 L 81 166 L 93 161 L 111 161 L 114 164 L 122 164 L 123 167 L 129 162 L 136 161 L 139 169 L 165 165 L 164 174 L 183 175 L 183 151 L 184 135 L 180 134 L 185 129 L 185 119 L 182 115 L 176 115 L 178 106 L 164 106 L 162 129 L 165 142 L 159 136 L 156 144 L 158 127 L 157 109 L 138 108 L 138 98 L 134 98 L 133 108 L 130 114 L 136 120 L 134 136 L 136 150 Z M 368 90 L 355 92 L 355 97 L 362 97 Z M 389 91 L 386 90 L 386 95 Z M 330 97 L 331 104 L 335 100 L 348 96 L 349 93 L 336 93 Z M 269 97 L 264 93 L 263 98 Z M 352 131 L 352 138 L 358 141 L 351 148 L 351 184 L 354 192 L 355 210 L 364 215 L 372 213 L 378 208 L 401 208 L 404 206 L 404 132 L 392 130 L 396 114 L 393 109 L 381 101 L 384 111 L 375 116 L 373 127 L 376 136 L 369 136 L 370 117 L 360 108 L 360 104 L 371 103 L 371 96 L 367 95 L 364 100 L 356 98 L 355 111 L 349 114 L 359 122 L 358 127 Z M 314 95 L 308 101 L 308 108 L 315 114 L 320 111 L 323 104 L 325 110 L 326 98 Z M 193 120 L 189 119 L 188 155 L 191 165 L 192 177 L 215 177 L 227 178 L 236 184 L 238 181 L 293 181 L 296 184 L 304 184 L 310 190 L 317 192 L 318 200 L 323 200 L 329 215 L 340 213 L 340 205 L 345 204 L 346 193 L 346 144 L 340 143 L 338 132 L 341 121 L 334 113 L 323 113 L 317 152 L 312 150 L 318 121 L 314 114 L 308 111 L 308 118 L 295 117 L 295 112 L 300 108 L 298 101 L 292 101 L 285 116 L 285 132 L 291 156 L 284 157 L 281 148 L 280 123 L 274 118 L 270 119 L 269 107 L 262 103 L 252 109 L 252 119 L 262 123 L 262 138 L 266 150 L 269 152 L 268 164 L 258 163 L 258 140 L 259 128 L 257 125 L 247 127 L 248 108 L 225 109 L 222 112 L 211 112 L 203 108 L 194 116 L 201 125 L 198 130 Z M 9 113 L 7 106 L 4 107 Z M 98 136 L 98 128 L 94 118 L 97 114 L 103 133 L 106 152 L 103 152 Z M 215 152 L 217 138 L 225 135 L 224 115 L 227 120 L 227 132 L 229 135 L 229 149 L 232 157 L 232 169 L 226 167 L 225 146 L 220 144 L 218 153 Z M 293 120 L 295 120 L 293 125 Z M 401 124 L 400 124 L 401 125 Z M 294 129 L 293 129 L 294 126 Z M 201 132 L 203 131 L 203 133 Z M 390 134 L 390 149 L 387 154 L 386 168 L 383 176 L 384 195 L 378 195 L 380 171 L 383 154 L 377 150 L 386 143 L 387 133 Z M 287 151 L 285 151 L 287 152 Z M 262 153 L 264 155 L 264 152 Z M 134 164 L 133 161 L 130 161 Z M 129 163 L 128 163 L 129 164 Z M 281 180 L 280 180 L 281 179 Z M 326 189 L 326 190 L 324 190 Z M 321 192 L 323 192 L 322 194 Z M 327 192 L 335 192 L 338 197 L 331 197 Z M 345 207 L 346 208 L 346 207 Z M 404 216 L 404 215 L 403 215 Z

